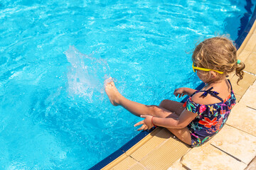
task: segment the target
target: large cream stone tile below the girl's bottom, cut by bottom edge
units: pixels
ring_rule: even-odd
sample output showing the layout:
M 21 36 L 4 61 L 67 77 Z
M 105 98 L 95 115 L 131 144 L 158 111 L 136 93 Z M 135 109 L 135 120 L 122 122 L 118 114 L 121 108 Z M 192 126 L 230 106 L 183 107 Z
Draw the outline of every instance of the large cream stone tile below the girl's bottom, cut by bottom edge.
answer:
M 181 164 L 188 169 L 200 170 L 243 170 L 247 166 L 243 162 L 230 157 L 230 155 L 221 152 L 219 149 L 206 143 L 201 147 L 195 147 L 181 159 Z

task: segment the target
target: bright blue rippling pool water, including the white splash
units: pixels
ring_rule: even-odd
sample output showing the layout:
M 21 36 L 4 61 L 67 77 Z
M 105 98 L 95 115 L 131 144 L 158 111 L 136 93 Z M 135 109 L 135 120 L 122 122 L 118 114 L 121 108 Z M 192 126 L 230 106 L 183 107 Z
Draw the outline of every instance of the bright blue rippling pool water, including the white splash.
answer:
M 0 1 L 0 169 L 88 169 L 138 134 L 108 101 L 158 105 L 191 69 L 198 40 L 238 38 L 248 1 Z

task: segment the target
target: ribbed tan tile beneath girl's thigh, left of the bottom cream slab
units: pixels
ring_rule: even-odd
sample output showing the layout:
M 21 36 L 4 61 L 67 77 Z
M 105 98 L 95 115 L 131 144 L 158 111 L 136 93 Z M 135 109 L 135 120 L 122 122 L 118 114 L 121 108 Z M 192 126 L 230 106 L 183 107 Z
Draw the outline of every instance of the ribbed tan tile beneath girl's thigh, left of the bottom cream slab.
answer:
M 168 169 L 178 159 L 183 157 L 190 148 L 180 140 L 170 137 L 161 146 L 154 149 L 139 162 L 147 169 Z

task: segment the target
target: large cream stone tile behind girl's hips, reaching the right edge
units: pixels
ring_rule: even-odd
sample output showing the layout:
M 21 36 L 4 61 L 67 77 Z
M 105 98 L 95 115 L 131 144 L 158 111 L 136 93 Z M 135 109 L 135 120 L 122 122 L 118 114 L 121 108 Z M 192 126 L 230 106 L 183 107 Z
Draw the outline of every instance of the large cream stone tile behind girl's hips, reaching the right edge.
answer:
M 249 164 L 256 155 L 256 137 L 229 125 L 225 125 L 210 144 L 245 164 Z

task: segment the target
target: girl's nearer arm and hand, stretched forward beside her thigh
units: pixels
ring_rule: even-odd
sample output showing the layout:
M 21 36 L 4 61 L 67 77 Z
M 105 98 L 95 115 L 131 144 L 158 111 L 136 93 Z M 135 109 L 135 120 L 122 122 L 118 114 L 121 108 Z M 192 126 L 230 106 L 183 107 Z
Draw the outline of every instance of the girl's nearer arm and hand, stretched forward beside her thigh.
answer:
M 164 128 L 172 128 L 172 129 L 181 129 L 185 128 L 191 121 L 196 118 L 197 114 L 192 113 L 184 109 L 181 115 L 178 118 L 157 118 L 152 117 L 151 115 L 141 115 L 144 120 L 136 123 L 134 126 L 146 125 L 148 128 L 152 128 L 154 125 L 161 126 Z M 139 128 L 138 130 L 143 130 L 144 128 Z

